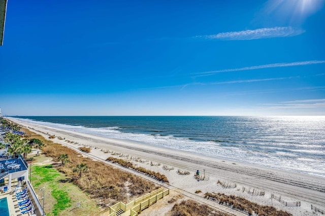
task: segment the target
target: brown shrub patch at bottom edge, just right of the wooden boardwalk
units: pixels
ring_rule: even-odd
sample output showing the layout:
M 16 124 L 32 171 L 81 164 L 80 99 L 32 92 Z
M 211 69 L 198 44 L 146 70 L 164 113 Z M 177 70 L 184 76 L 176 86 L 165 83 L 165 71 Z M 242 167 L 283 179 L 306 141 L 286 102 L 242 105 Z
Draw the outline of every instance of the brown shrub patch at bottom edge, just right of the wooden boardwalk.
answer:
M 220 211 L 216 211 L 207 205 L 200 204 L 193 200 L 184 200 L 179 204 L 175 204 L 172 208 L 172 216 L 201 216 L 201 215 L 229 215 Z

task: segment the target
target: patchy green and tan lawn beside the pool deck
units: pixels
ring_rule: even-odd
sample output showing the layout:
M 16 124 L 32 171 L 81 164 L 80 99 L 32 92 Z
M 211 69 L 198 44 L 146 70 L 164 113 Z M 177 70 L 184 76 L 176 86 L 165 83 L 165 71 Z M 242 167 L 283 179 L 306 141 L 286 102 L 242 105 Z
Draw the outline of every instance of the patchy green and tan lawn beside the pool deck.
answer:
M 45 187 L 46 215 L 99 215 L 101 212 L 88 195 L 67 181 L 67 177 L 52 165 L 32 165 L 31 185 L 42 205 L 43 191 L 40 189 Z M 79 201 L 80 207 L 77 205 Z

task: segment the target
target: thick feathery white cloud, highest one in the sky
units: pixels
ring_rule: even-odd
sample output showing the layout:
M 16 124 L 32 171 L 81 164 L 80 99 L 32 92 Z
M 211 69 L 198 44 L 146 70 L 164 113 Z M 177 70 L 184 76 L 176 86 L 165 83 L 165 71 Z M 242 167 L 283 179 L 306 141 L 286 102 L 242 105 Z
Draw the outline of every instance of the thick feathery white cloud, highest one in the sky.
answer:
M 258 28 L 254 30 L 230 31 L 211 35 L 198 35 L 193 38 L 207 40 L 225 40 L 225 41 L 243 41 L 256 40 L 264 38 L 282 38 L 293 37 L 304 33 L 305 30 L 294 27 L 273 27 L 273 28 Z

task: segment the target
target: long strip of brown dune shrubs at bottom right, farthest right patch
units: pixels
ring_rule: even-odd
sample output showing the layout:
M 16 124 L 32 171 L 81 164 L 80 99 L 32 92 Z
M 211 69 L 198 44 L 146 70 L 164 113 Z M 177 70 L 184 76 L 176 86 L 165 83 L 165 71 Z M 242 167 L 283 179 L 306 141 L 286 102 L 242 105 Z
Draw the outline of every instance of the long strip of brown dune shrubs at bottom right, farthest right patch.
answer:
M 265 216 L 290 216 L 291 214 L 282 211 L 277 210 L 273 206 L 265 206 L 265 205 L 259 205 L 257 203 L 251 202 L 247 199 L 244 199 L 242 197 L 237 197 L 234 195 L 225 195 L 220 193 L 206 193 L 204 195 L 206 199 L 212 199 L 214 201 L 218 201 L 220 204 L 225 204 L 232 206 L 233 208 L 236 208 L 241 211 L 246 211 L 249 214 L 252 214 L 253 211 L 255 214 L 258 214 L 259 216 L 265 215 Z

